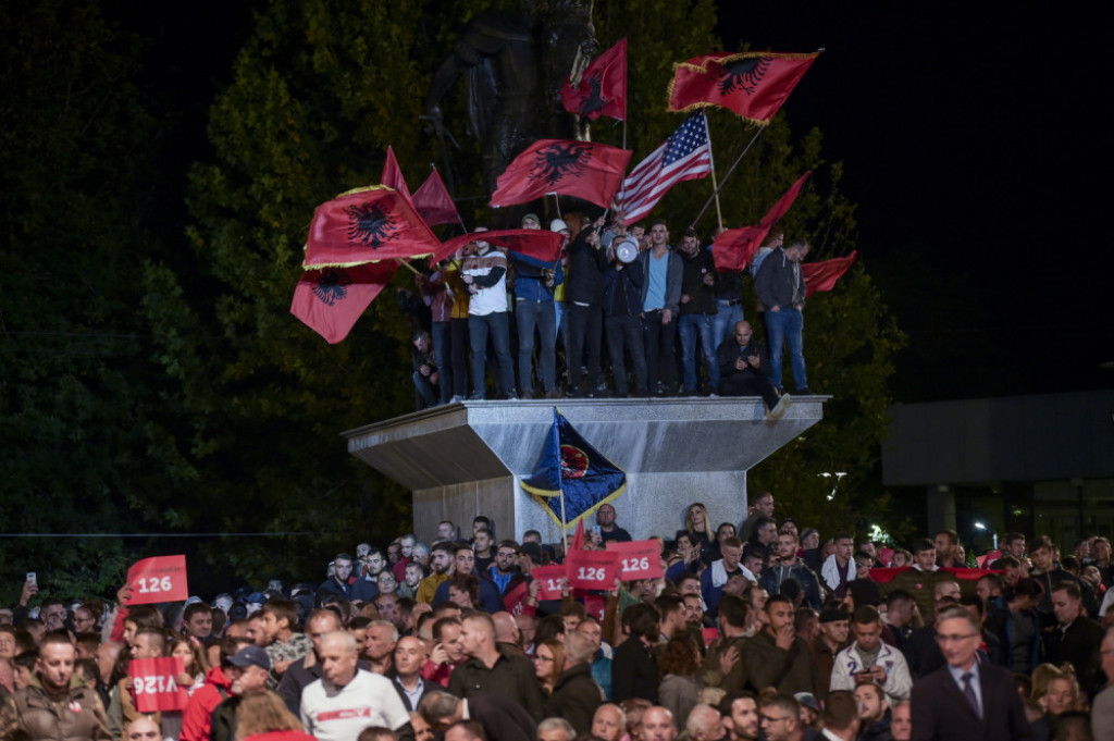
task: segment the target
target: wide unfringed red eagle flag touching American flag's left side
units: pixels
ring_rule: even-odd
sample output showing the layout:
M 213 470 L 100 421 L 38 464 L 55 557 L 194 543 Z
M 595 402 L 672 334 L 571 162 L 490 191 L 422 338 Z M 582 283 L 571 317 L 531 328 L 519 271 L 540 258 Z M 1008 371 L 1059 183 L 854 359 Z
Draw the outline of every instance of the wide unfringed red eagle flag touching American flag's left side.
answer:
M 607 208 L 623 184 L 628 162 L 628 150 L 606 144 L 540 139 L 507 165 L 491 205 L 514 206 L 556 193 Z

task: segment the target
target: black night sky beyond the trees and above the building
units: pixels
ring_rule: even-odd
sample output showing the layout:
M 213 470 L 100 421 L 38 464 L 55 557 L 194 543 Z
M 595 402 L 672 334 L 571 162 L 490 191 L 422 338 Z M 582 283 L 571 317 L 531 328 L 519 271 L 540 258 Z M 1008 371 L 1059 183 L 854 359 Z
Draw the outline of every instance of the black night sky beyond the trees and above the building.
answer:
M 1114 263 L 1098 223 L 1111 65 L 1091 11 L 720 8 L 727 49 L 825 49 L 785 110 L 798 133 L 819 126 L 828 158 L 846 163 L 860 254 L 910 335 L 899 399 L 1114 383 L 1097 368 L 1114 360 Z M 186 107 L 185 162 L 206 156 L 205 109 L 250 18 L 214 0 L 129 17 L 162 39 L 152 61 L 174 95 L 203 101 Z

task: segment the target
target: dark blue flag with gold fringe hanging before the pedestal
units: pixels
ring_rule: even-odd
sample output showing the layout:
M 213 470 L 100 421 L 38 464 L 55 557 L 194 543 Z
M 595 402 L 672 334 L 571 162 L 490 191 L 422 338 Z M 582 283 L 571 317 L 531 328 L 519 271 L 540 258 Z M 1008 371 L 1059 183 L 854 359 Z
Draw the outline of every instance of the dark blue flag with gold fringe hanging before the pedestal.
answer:
M 554 423 L 546 436 L 534 475 L 522 479 L 526 489 L 560 525 L 561 499 L 568 525 L 594 513 L 626 488 L 626 474 L 588 445 L 554 407 Z

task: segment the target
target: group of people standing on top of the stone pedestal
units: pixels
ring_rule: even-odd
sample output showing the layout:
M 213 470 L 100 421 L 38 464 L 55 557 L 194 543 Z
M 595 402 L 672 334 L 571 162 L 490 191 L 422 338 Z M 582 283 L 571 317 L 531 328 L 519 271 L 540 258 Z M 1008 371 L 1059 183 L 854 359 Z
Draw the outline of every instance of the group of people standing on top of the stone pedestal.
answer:
M 527 214 L 521 226 L 540 230 L 541 221 Z M 773 413 L 786 344 L 797 393 L 811 393 L 803 240 L 786 244 L 773 228 L 745 273 L 768 345 L 744 319 L 744 273 L 717 271 L 694 230 L 676 247 L 661 220 L 628 228 L 566 214 L 549 230 L 564 236 L 553 263 L 477 240 L 418 275 L 417 293 L 400 292 L 414 329 L 419 408 L 488 398 L 490 369 L 506 399 L 754 396 Z

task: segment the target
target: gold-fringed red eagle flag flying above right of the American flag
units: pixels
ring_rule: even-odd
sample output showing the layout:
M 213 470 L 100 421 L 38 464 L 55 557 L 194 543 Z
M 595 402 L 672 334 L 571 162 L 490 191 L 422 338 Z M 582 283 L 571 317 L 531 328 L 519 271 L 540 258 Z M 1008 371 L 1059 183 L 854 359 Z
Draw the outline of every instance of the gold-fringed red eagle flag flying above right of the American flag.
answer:
M 693 57 L 674 66 L 668 110 L 721 106 L 765 126 L 818 56 L 744 51 Z

